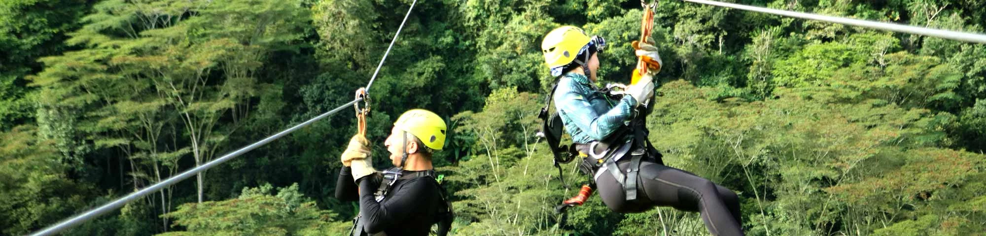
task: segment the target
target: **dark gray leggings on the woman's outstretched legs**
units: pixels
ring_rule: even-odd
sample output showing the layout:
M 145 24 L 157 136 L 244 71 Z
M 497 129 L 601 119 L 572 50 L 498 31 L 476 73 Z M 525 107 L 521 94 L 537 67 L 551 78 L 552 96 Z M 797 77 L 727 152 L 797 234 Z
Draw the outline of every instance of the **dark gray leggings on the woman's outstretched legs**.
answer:
M 617 162 L 620 169 L 627 169 L 627 159 Z M 740 199 L 732 190 L 650 160 L 641 161 L 637 176 L 637 193 L 640 194 L 636 201 L 627 202 L 619 182 L 608 171 L 599 174 L 596 185 L 606 207 L 616 212 L 641 212 L 655 206 L 698 211 L 713 235 L 743 235 Z

